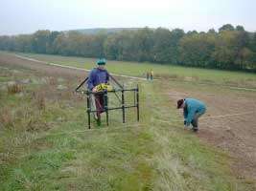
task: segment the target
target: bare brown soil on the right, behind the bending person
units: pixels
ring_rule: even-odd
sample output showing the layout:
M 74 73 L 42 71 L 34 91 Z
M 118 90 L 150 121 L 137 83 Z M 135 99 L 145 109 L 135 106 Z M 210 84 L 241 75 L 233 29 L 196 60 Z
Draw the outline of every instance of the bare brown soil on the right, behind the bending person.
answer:
M 175 89 L 169 96 L 172 101 L 198 97 L 207 103 L 207 113 L 200 118 L 198 138 L 229 152 L 239 178 L 256 180 L 256 94 L 201 94 Z

